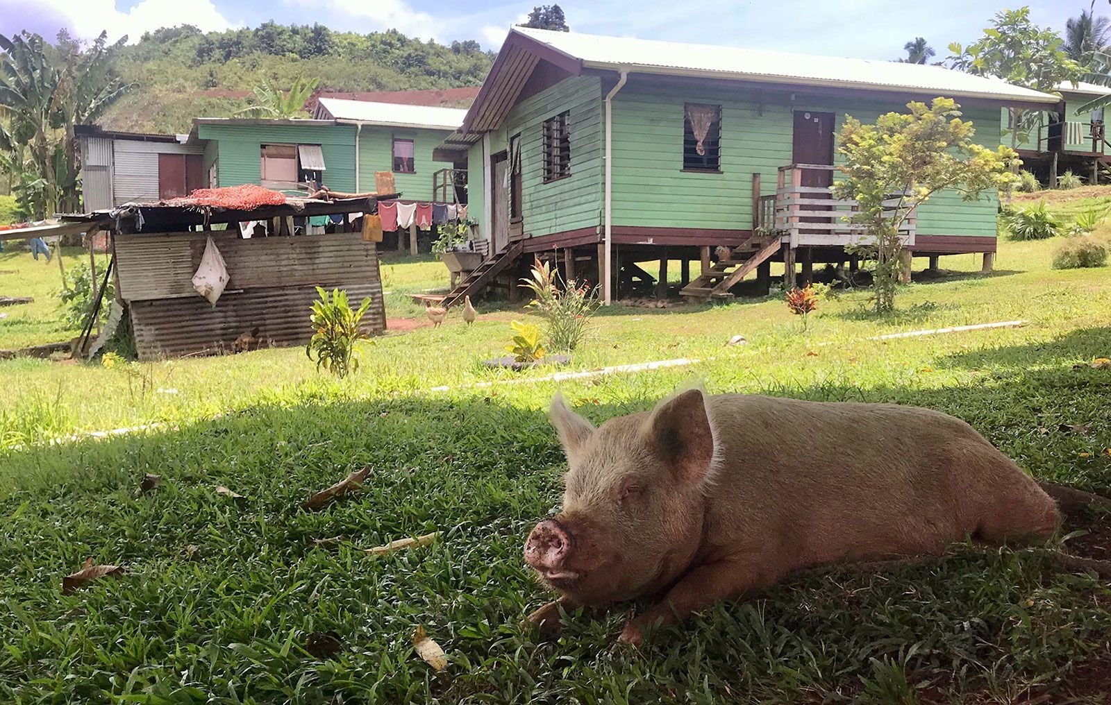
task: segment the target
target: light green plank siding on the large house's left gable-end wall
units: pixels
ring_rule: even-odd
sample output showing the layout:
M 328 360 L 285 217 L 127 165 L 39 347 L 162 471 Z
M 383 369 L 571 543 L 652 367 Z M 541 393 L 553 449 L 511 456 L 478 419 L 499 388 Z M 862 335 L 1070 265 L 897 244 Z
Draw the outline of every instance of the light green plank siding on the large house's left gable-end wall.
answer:
M 571 172 L 543 182 L 543 121 L 570 111 Z M 531 236 L 597 228 L 602 208 L 602 102 L 601 79 L 572 77 L 521 101 L 510 111 L 504 130 L 491 135 L 491 151 L 507 149 L 508 140 L 521 135 L 521 192 L 524 233 Z M 481 151 L 480 151 L 481 153 Z M 468 168 L 474 163 L 468 161 Z M 481 158 L 479 158 L 481 161 Z M 471 183 L 481 173 L 470 171 Z M 471 210 L 481 203 L 471 188 Z

